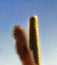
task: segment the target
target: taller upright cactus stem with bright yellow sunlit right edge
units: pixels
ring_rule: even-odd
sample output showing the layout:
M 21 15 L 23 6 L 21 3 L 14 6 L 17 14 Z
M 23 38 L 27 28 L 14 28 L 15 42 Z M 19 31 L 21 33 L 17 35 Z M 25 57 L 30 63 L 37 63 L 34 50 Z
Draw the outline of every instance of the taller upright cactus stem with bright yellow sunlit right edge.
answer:
M 29 20 L 29 47 L 33 51 L 37 65 L 40 65 L 40 46 L 39 46 L 39 27 L 38 17 L 32 16 Z

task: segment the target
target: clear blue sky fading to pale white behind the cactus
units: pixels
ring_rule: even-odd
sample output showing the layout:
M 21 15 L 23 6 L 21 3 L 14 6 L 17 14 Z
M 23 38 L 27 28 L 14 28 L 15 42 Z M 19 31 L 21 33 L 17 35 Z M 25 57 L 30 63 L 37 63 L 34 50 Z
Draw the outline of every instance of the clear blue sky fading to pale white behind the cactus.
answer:
M 28 32 L 28 19 L 39 17 L 41 64 L 57 65 L 57 0 L 0 0 L 0 65 L 22 65 L 12 36 L 14 25 Z

